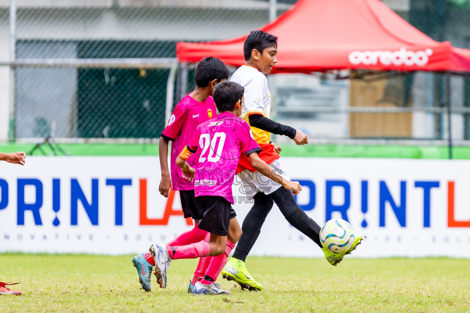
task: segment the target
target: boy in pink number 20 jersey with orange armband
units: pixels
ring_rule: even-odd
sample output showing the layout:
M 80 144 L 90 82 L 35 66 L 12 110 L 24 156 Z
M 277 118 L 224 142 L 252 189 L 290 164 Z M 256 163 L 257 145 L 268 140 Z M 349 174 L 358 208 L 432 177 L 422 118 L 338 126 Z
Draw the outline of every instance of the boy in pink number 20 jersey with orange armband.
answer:
M 181 245 L 153 244 L 150 253 L 155 258 L 155 275 L 162 288 L 166 287 L 166 271 L 172 260 L 212 256 L 204 279 L 196 282 L 192 293 L 218 295 L 230 294 L 215 280 L 241 236 L 232 208 L 232 183 L 240 155 L 245 153 L 254 168 L 293 194 L 298 194 L 302 188 L 298 182 L 276 176 L 266 162 L 259 159 L 257 152 L 261 148 L 251 136 L 248 123 L 240 118 L 243 87 L 234 82 L 222 82 L 215 87 L 213 97 L 219 115 L 197 127 L 195 136 L 176 160 L 183 177 L 194 181 L 196 201 L 204 207 L 198 227 L 210 233 L 209 240 Z M 198 161 L 196 169 L 187 161 L 191 157 Z

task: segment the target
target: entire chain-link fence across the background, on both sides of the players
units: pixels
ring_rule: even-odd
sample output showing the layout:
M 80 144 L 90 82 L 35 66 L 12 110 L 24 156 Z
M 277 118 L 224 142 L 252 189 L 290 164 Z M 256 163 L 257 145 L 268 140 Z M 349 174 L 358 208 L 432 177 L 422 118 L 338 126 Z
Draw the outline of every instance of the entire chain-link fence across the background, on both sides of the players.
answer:
M 194 67 L 176 65 L 176 42 L 246 34 L 269 22 L 274 1 L 15 0 L 13 29 L 9 2 L 0 1 L 0 60 L 9 59 L 7 34 L 13 31 L 15 97 L 8 105 L 11 76 L 8 68 L 0 69 L 0 140 L 8 139 L 9 127 L 10 137 L 24 141 L 49 135 L 73 141 L 159 137 L 168 110 L 194 88 Z M 277 0 L 275 12 L 295 2 Z M 470 1 L 384 3 L 432 38 L 470 48 Z M 468 77 L 450 80 L 450 119 L 441 74 L 392 73 L 370 81 L 320 73 L 268 79 L 273 118 L 319 141 L 445 139 L 448 129 L 454 139 L 470 139 Z M 14 112 L 11 123 L 4 112 Z

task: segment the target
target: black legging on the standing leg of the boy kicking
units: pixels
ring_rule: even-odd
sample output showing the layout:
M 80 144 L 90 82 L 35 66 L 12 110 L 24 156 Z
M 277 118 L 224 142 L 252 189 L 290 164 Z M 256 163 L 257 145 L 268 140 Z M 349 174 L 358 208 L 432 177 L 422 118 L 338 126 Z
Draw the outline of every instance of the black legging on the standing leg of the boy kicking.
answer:
M 250 212 L 246 215 L 242 224 L 242 237 L 238 240 L 233 257 L 245 261 L 251 248 L 258 239 L 261 232 L 261 226 L 266 219 L 267 214 L 273 207 L 273 199 L 266 196 L 263 192 L 258 192 L 254 197 L 255 203 Z

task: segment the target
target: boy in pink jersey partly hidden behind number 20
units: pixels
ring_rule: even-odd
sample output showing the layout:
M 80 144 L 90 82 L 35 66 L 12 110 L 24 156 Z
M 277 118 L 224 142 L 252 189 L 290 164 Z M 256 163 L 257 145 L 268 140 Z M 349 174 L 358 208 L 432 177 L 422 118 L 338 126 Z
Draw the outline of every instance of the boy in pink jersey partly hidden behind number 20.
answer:
M 176 105 L 168 125 L 165 127 L 158 144 L 160 168 L 162 180 L 159 191 L 164 197 L 168 197 L 170 188 L 180 191 L 181 208 L 185 218 L 195 220 L 193 229 L 181 234 L 168 244 L 191 244 L 204 240 L 207 231 L 198 227 L 199 220 L 203 217 L 204 208 L 195 200 L 194 183 L 184 179 L 181 169 L 176 166 L 176 158 L 183 147 L 194 137 L 197 126 L 217 115 L 212 92 L 214 87 L 228 78 L 228 69 L 222 61 L 214 57 L 206 57 L 197 65 L 194 80 L 196 89 L 187 94 Z M 171 178 L 168 171 L 168 142 L 172 141 L 171 151 Z M 188 162 L 196 166 L 196 158 L 190 158 Z M 139 282 L 143 290 L 150 291 L 150 276 L 155 262 L 150 253 L 141 253 L 132 259 L 134 267 L 139 274 Z M 201 278 L 202 279 L 202 278 Z

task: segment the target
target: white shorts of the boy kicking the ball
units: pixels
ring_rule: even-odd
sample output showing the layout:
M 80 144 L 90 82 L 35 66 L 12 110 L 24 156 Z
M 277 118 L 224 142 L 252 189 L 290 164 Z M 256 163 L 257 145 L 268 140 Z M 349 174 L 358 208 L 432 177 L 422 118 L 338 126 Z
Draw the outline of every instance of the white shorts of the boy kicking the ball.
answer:
M 290 180 L 289 176 L 287 176 L 286 172 L 282 169 L 279 159 L 269 164 L 269 168 L 274 175 L 282 176 L 282 179 Z M 243 183 L 240 192 L 245 196 L 253 197 L 257 192 L 270 194 L 281 187 L 280 183 L 276 183 L 274 180 L 267 178 L 258 171 L 250 172 L 248 169 L 245 169 L 238 173 L 237 176 Z

